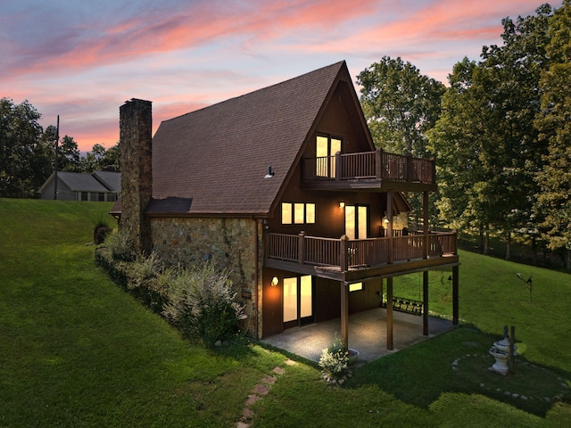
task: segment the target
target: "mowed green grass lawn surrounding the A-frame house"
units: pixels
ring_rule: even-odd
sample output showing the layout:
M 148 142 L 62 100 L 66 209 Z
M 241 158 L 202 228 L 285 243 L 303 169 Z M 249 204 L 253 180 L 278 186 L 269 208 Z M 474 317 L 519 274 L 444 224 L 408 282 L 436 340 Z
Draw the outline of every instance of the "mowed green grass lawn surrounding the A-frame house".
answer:
M 269 394 L 250 406 L 252 427 L 571 424 L 561 385 L 571 378 L 566 274 L 462 252 L 463 326 L 362 366 L 334 388 L 315 365 L 287 364 L 255 343 L 206 350 L 187 342 L 113 284 L 90 245 L 110 207 L 0 200 L 0 426 L 236 426 L 276 368 Z M 532 303 L 517 272 L 533 275 Z M 449 316 L 446 273 L 430 281 L 430 309 Z M 399 278 L 395 293 L 417 297 L 418 277 Z M 516 326 L 525 352 L 496 391 L 504 381 L 485 356 L 503 325 Z

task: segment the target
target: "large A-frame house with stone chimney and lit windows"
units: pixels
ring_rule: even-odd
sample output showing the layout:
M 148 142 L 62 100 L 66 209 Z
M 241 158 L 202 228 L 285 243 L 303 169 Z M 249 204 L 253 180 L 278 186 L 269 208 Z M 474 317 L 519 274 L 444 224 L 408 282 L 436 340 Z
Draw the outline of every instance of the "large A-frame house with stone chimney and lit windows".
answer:
M 458 323 L 456 235 L 428 230 L 434 160 L 375 148 L 345 62 L 165 120 L 154 137 L 151 117 L 147 101 L 120 107 L 112 214 L 140 250 L 231 268 L 254 337 L 341 317 L 347 343 L 349 314 L 392 301 L 393 276 L 414 272 L 427 334 L 430 269 L 451 271 Z M 395 226 L 402 192 L 423 194 L 423 230 Z

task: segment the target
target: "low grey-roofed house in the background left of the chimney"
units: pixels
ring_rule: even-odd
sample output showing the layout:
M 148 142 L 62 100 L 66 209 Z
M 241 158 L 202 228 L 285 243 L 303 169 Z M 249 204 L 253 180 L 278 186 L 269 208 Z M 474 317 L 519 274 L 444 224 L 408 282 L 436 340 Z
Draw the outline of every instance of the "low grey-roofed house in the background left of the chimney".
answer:
M 92 174 L 82 174 L 58 171 L 57 188 L 55 177 L 54 172 L 37 191 L 42 199 L 115 202 L 121 189 L 119 172 L 95 171 Z M 54 193 L 57 193 L 57 198 L 54 198 Z

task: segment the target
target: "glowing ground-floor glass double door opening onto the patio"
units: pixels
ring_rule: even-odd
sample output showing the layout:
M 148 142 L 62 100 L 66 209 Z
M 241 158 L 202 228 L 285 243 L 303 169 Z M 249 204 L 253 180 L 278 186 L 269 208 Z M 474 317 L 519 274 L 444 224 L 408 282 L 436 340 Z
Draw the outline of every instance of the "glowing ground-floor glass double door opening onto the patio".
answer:
M 284 278 L 284 330 L 314 321 L 311 276 Z

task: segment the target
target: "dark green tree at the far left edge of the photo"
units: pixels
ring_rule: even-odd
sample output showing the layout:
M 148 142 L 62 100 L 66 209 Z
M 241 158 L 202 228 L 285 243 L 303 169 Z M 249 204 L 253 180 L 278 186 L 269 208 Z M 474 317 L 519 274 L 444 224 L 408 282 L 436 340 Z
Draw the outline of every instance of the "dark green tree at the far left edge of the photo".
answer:
M 33 198 L 51 174 L 41 114 L 28 102 L 0 100 L 0 197 Z

